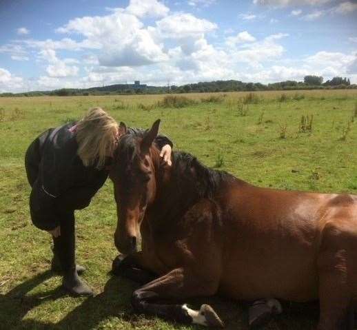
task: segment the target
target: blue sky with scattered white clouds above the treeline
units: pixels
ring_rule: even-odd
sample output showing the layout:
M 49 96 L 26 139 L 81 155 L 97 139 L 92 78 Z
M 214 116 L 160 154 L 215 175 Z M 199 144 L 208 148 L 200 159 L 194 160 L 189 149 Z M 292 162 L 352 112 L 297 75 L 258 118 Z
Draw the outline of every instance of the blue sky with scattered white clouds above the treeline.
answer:
M 357 0 L 0 0 L 0 92 L 357 83 Z

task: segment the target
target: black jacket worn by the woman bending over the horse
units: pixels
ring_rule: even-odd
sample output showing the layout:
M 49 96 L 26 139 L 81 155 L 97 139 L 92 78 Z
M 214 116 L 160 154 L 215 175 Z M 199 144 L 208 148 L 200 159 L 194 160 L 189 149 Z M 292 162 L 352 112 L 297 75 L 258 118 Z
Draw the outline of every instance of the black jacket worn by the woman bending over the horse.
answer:
M 61 212 L 87 207 L 108 178 L 104 167 L 83 165 L 77 155 L 75 134 L 70 132 L 74 125 L 69 123 L 43 132 L 26 153 L 26 170 L 32 185 L 30 211 L 34 225 L 40 229 L 57 227 Z M 129 128 L 128 132 L 141 135 L 145 131 Z M 166 144 L 173 146 L 163 135 L 157 136 L 155 143 L 159 149 Z

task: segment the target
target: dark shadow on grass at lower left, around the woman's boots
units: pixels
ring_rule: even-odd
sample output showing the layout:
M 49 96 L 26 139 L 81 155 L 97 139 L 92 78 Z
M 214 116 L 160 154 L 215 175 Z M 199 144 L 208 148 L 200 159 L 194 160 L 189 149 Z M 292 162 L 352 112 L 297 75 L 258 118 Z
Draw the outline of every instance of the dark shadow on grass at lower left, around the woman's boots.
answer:
M 56 324 L 23 320 L 29 311 L 44 302 L 67 296 L 61 287 L 27 296 L 28 292 L 51 276 L 51 271 L 45 271 L 14 287 L 5 295 L 0 295 L 0 329 L 95 329 L 103 320 L 114 316 L 123 316 L 124 320 L 130 320 L 130 297 L 133 286 L 130 281 L 116 276 L 108 280 L 103 292 L 85 298 L 81 305 L 75 307 Z

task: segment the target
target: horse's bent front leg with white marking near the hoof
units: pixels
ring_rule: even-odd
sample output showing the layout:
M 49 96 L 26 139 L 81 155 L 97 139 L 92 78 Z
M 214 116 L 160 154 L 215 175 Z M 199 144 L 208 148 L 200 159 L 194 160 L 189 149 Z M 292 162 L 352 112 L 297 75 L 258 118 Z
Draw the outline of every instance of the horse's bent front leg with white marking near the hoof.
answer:
M 132 306 L 139 313 L 160 316 L 167 320 L 207 327 L 223 327 L 223 322 L 209 305 L 199 311 L 187 305 L 166 303 L 192 296 L 212 296 L 218 288 L 218 278 L 198 278 L 190 269 L 178 268 L 134 291 Z

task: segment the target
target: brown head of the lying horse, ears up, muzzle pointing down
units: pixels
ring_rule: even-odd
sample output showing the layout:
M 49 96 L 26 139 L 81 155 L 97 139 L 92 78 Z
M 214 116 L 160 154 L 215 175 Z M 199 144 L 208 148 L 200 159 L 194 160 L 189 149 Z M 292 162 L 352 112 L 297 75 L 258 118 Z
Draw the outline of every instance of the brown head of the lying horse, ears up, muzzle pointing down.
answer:
M 114 243 L 123 254 L 136 251 L 146 207 L 155 198 L 154 163 L 159 159 L 159 150 L 153 147 L 152 143 L 158 134 L 159 125 L 160 121 L 155 121 L 143 136 L 127 134 L 124 123 L 119 126 L 121 138 L 116 148 L 110 178 L 114 183 L 118 215 Z

